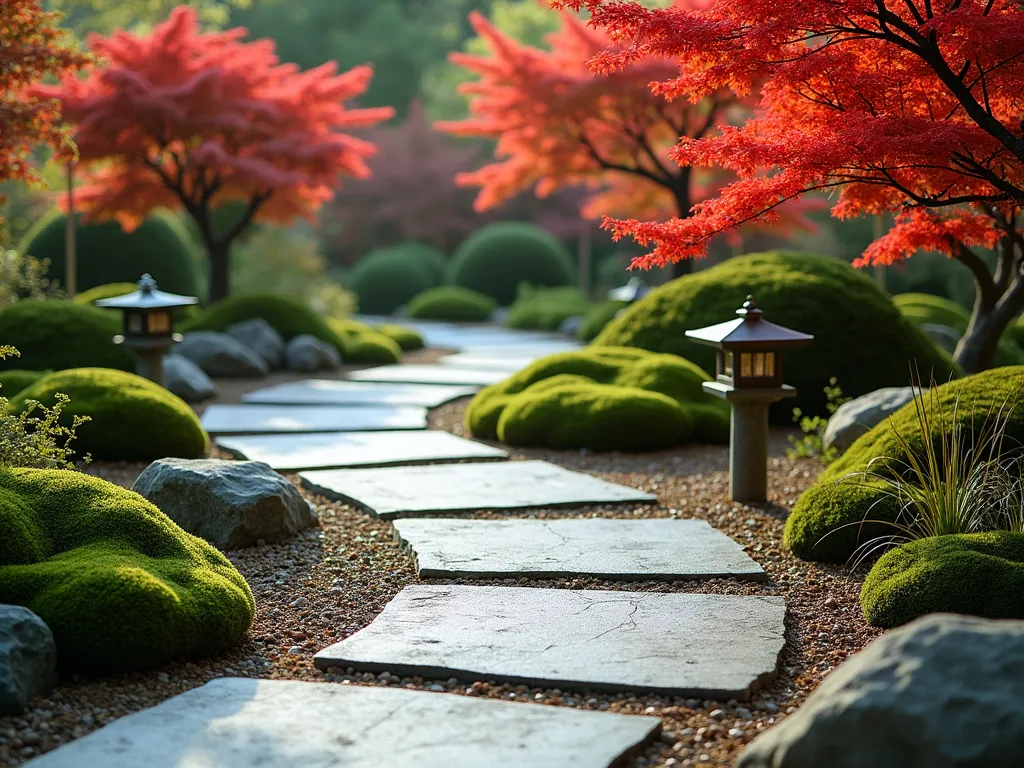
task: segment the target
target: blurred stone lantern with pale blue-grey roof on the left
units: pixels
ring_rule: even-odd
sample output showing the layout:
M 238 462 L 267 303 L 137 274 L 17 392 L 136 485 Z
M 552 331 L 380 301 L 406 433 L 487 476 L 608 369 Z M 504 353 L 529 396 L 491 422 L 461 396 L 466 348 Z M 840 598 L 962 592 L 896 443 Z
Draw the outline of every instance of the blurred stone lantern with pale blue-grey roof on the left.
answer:
M 181 334 L 174 333 L 174 310 L 198 302 L 195 296 L 157 290 L 157 281 L 143 274 L 137 291 L 102 299 L 96 306 L 124 312 L 124 334 L 115 336 L 114 343 L 134 349 L 138 354 L 136 373 L 163 386 L 164 354 L 181 341 Z

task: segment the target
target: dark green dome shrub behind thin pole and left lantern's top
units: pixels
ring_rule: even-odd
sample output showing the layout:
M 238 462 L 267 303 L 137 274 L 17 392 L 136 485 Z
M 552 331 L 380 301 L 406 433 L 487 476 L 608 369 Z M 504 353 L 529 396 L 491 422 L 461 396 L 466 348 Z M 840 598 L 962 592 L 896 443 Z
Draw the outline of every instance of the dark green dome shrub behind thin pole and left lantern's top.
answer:
M 66 217 L 51 211 L 25 236 L 18 250 L 38 259 L 49 259 L 48 276 L 65 285 Z M 188 232 L 171 214 L 148 216 L 126 232 L 116 221 L 85 223 L 76 229 L 77 288 L 85 291 L 111 283 L 137 283 L 148 272 L 160 289 L 196 296 L 199 275 Z

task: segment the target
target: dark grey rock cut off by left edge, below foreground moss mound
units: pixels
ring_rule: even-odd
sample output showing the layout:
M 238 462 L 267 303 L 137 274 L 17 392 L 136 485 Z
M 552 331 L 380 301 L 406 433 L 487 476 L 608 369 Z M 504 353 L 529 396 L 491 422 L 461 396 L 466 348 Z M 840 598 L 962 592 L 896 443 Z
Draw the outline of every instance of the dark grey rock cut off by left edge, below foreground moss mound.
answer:
M 20 605 L 0 605 L 0 715 L 19 715 L 29 699 L 57 683 L 57 649 L 42 618 Z

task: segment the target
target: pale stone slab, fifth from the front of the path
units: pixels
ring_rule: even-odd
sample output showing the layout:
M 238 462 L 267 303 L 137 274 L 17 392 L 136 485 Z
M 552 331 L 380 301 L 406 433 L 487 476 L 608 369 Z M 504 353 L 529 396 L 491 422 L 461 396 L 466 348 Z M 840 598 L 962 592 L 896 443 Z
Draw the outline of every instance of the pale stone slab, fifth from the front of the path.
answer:
M 216 444 L 239 458 L 265 462 L 278 470 L 508 458 L 500 449 L 433 429 L 220 437 Z

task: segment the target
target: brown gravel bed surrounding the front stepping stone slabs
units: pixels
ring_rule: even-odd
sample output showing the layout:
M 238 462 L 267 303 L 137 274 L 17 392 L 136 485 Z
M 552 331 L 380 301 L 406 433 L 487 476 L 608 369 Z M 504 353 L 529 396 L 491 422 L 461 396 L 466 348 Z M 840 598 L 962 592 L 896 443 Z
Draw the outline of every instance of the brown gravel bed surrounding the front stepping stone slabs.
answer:
M 431 424 L 462 434 L 467 400 L 431 413 Z M 651 695 L 562 691 L 486 681 L 397 679 L 383 673 L 351 674 L 313 669 L 315 651 L 366 627 L 399 590 L 416 583 L 412 556 L 395 541 L 390 523 L 307 492 L 321 527 L 285 543 L 227 553 L 256 597 L 256 620 L 232 651 L 199 664 L 176 664 L 147 673 L 101 680 L 63 681 L 22 717 L 0 718 L 0 765 L 18 765 L 112 720 L 159 703 L 222 676 L 328 681 L 342 685 L 389 685 L 452 691 L 460 695 L 536 701 L 560 707 L 653 715 L 664 733 L 624 765 L 728 766 L 743 744 L 799 707 L 821 678 L 879 632 L 867 627 L 858 594 L 863 572 L 797 560 L 783 551 L 788 509 L 820 471 L 811 460 L 785 458 L 786 433 L 772 435 L 770 503 L 746 506 L 728 500 L 728 453 L 691 445 L 658 454 L 515 451 L 513 459 L 545 459 L 568 469 L 657 495 L 659 504 L 590 506 L 580 516 L 707 520 L 746 547 L 768 574 L 764 583 L 733 580 L 603 582 L 592 579 L 439 581 L 436 584 L 497 584 L 651 592 L 780 595 L 788 609 L 786 645 L 777 679 L 749 703 L 700 701 Z M 87 471 L 130 486 L 142 464 L 95 464 Z M 290 475 L 297 482 L 294 475 Z M 482 513 L 481 518 L 558 517 L 564 510 Z M 465 518 L 466 515 L 460 515 Z

